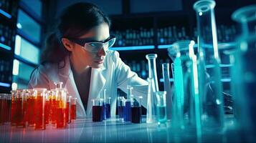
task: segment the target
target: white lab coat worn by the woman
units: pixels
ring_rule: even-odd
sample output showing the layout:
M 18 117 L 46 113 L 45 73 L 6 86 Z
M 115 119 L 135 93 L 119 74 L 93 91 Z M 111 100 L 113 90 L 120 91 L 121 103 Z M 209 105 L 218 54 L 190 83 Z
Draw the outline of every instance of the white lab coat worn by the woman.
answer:
M 60 68 L 61 66 L 64 67 Z M 75 84 L 68 56 L 65 58 L 65 64 L 62 62 L 59 67 L 57 64 L 40 65 L 32 74 L 28 87 L 29 89 L 35 87 L 54 89 L 54 82 L 63 82 L 63 87 L 72 97 L 77 98 L 77 118 L 92 114 L 93 102 L 91 100 L 100 98 L 103 89 L 106 89 L 106 97 L 111 97 L 111 117 L 114 117 L 117 88 L 127 92 L 126 88 L 129 83 L 133 85 L 133 94 L 137 101 L 139 101 L 139 96 L 143 96 L 142 105 L 146 107 L 148 82 L 131 71 L 130 67 L 120 59 L 117 51 L 108 51 L 103 66 L 99 69 L 92 69 L 86 112 Z

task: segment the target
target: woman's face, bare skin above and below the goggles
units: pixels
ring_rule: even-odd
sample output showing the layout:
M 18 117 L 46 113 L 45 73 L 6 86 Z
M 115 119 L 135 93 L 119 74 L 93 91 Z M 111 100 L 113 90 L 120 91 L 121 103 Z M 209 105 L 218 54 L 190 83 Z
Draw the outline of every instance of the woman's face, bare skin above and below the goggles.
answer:
M 95 26 L 93 29 L 90 29 L 86 34 L 79 37 L 79 39 L 90 39 L 91 41 L 105 41 L 110 37 L 109 26 L 106 23 Z M 72 42 L 72 41 L 70 41 Z M 86 50 L 80 44 L 72 42 L 73 47 L 71 48 L 72 59 L 76 64 L 82 67 L 93 67 L 95 69 L 103 66 L 103 61 L 105 59 L 106 51 L 102 48 L 98 52 L 91 52 Z

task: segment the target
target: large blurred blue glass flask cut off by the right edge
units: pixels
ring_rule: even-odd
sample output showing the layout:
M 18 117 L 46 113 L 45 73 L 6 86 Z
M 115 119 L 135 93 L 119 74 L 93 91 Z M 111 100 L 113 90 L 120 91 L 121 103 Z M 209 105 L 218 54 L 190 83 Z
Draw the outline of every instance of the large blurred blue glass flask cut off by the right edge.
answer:
M 242 34 L 237 38 L 232 66 L 232 94 L 234 94 L 234 116 L 237 125 L 246 134 L 245 142 L 252 142 L 250 135 L 256 132 L 256 5 L 245 6 L 232 14 L 240 24 Z

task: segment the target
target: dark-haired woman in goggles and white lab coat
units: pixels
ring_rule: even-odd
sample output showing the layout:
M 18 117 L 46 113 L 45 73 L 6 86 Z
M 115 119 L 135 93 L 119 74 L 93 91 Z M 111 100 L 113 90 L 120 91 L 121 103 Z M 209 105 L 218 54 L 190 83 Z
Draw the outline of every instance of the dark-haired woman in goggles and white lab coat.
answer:
M 115 43 L 110 35 L 110 19 L 98 6 L 77 3 L 62 11 L 60 23 L 46 40 L 41 63 L 32 73 L 29 88 L 54 89 L 54 82 L 63 82 L 72 97 L 77 97 L 77 117 L 92 114 L 92 99 L 106 89 L 111 97 L 111 116 L 115 116 L 117 88 L 126 92 L 133 85 L 133 94 L 143 96 L 146 107 L 148 82 L 139 78 L 109 50 Z

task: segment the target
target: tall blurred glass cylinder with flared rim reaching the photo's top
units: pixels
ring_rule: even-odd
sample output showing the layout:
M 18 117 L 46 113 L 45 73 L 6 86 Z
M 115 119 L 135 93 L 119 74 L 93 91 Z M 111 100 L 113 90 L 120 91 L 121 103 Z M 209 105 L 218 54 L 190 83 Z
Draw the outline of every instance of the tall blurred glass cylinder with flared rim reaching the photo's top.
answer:
M 202 104 L 202 127 L 222 131 L 224 103 L 214 6 L 215 1 L 212 0 L 196 1 L 194 4 L 199 34 L 197 57 L 199 97 L 200 104 Z

